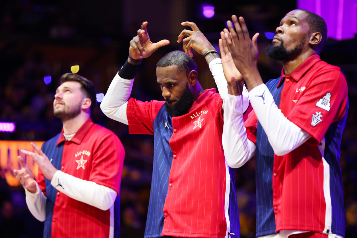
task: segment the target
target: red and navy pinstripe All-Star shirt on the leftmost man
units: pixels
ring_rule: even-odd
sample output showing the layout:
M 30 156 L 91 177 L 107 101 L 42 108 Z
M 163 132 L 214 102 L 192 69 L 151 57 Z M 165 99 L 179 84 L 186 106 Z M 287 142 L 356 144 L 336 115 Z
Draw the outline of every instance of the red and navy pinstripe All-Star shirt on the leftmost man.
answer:
M 65 141 L 62 131 L 45 142 L 42 149 L 57 169 L 119 193 L 124 147 L 113 132 L 94 124 L 91 119 L 71 141 Z M 79 167 L 77 161 L 80 159 L 86 160 L 84 168 Z M 72 199 L 52 187 L 40 170 L 37 182 L 47 197 L 45 237 L 110 237 L 111 218 L 117 221 L 113 221 L 114 237 L 120 237 L 120 228 L 116 227 L 120 226 L 119 206 L 102 211 Z M 114 206 L 119 201 L 117 197 Z

